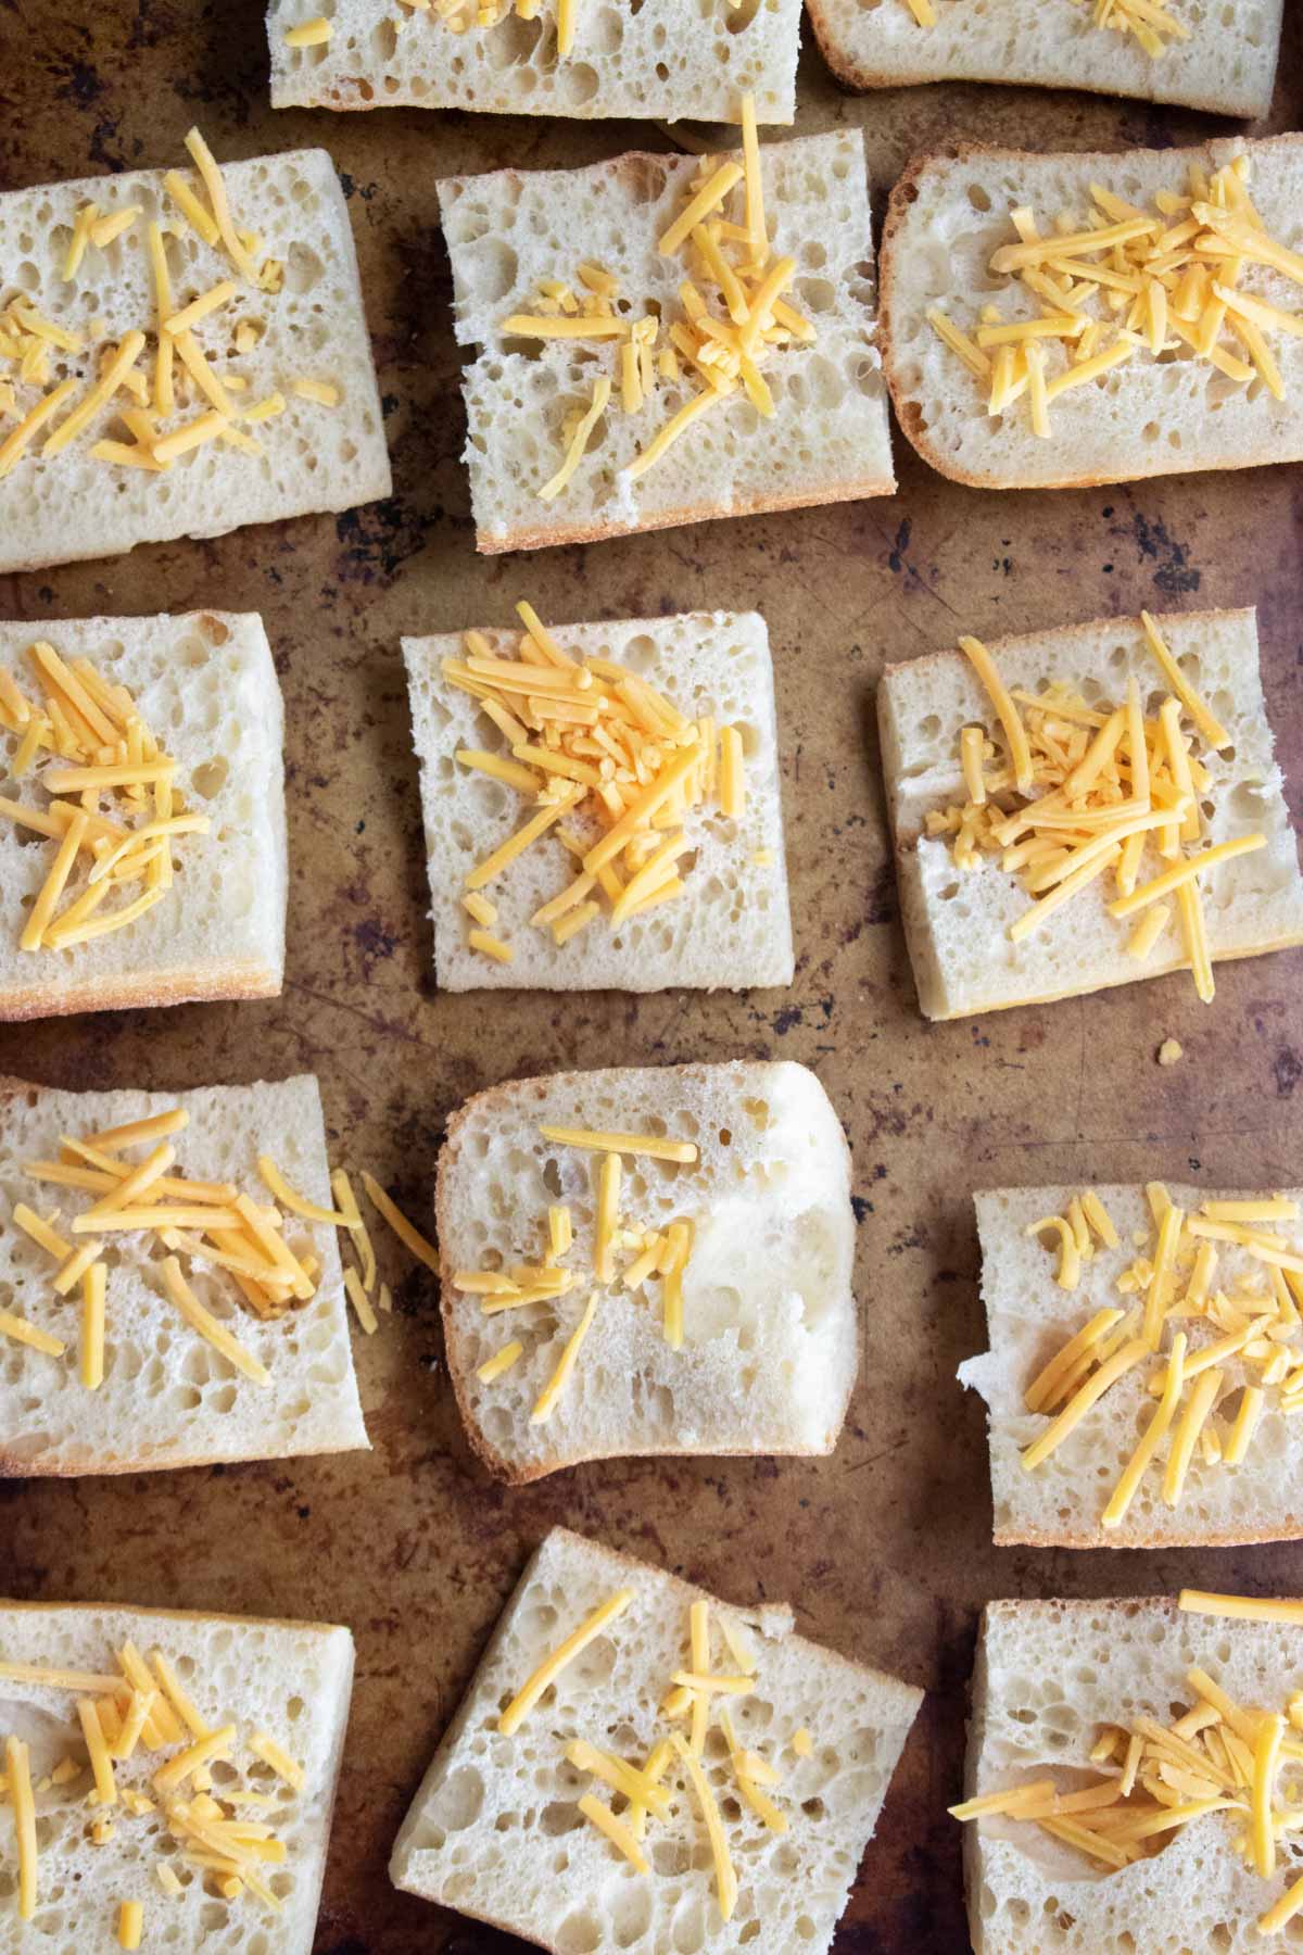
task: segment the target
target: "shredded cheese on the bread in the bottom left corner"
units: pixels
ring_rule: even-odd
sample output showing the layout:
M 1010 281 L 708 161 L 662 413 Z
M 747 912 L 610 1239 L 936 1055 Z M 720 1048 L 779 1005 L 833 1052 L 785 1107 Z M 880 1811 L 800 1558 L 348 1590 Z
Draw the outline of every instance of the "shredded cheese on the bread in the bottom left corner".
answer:
M 260 1814 L 285 1812 L 272 1779 L 301 1795 L 303 1767 L 266 1732 L 242 1738 L 234 1720 L 209 1726 L 162 1650 L 152 1650 L 147 1662 L 133 1642 L 125 1642 L 113 1660 L 117 1670 L 105 1673 L 0 1662 L 0 1683 L 66 1691 L 80 1726 L 80 1748 L 37 1783 L 21 1738 L 10 1736 L 0 1748 L 0 1799 L 12 1808 L 18 1838 L 20 1922 L 35 1918 L 41 1896 L 39 1801 L 47 1801 L 45 1812 L 84 1806 L 92 1814 L 86 1838 L 96 1846 L 107 1846 L 117 1828 L 133 1820 L 148 1822 L 154 1832 L 162 1822 L 182 1863 L 199 1875 L 207 1892 L 223 1900 L 248 1892 L 279 1914 L 281 1896 L 272 1883 L 287 1861 L 287 1847 Z M 240 1783 L 227 1775 L 219 1789 L 215 1763 L 238 1763 Z M 154 1877 L 164 1894 L 186 1892 L 170 1859 L 154 1863 Z M 119 1947 L 141 1947 L 143 1916 L 143 1902 L 121 1902 Z

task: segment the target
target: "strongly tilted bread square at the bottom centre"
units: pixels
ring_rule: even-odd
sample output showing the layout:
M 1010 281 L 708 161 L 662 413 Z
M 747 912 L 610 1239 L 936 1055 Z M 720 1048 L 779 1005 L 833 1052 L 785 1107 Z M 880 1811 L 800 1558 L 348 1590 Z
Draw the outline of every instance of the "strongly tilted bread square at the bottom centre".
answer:
M 633 1597 L 525 1718 L 516 1736 L 498 1713 L 539 1662 L 613 1591 Z M 721 1922 L 711 1851 L 694 1795 L 674 1761 L 666 1818 L 647 1820 L 651 1871 L 621 1859 L 578 1812 L 609 1793 L 565 1758 L 588 1740 L 641 1765 L 652 1744 L 682 1730 L 660 1711 L 688 1662 L 688 1611 L 709 1603 L 713 1662 L 735 1670 L 721 1640 L 733 1630 L 756 1666 L 752 1695 L 733 1703 L 738 1744 L 781 1773 L 770 1799 L 789 1818 L 770 1832 L 736 1797 L 719 1730 L 703 1769 L 723 1814 L 738 1877 L 731 1924 Z M 553 1529 L 531 1558 L 492 1634 L 395 1844 L 395 1885 L 524 1935 L 553 1955 L 664 1955 L 754 1945 L 764 1951 L 832 1945 L 838 1916 L 873 1836 L 922 1691 L 789 1632 L 791 1613 L 731 1607 L 625 1554 Z M 809 1728 L 801 1758 L 791 1740 Z

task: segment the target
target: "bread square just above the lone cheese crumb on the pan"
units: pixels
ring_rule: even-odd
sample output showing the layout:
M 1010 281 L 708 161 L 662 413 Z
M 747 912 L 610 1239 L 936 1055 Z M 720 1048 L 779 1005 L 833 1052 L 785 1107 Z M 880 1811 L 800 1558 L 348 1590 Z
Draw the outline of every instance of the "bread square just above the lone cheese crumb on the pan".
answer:
M 1256 854 L 1217 864 L 1199 878 L 1211 956 L 1260 956 L 1303 942 L 1303 880 L 1262 696 L 1254 612 L 1168 614 L 1156 624 L 1172 657 L 1233 735 L 1225 753 L 1199 751 L 1209 772 L 1199 800 L 1207 839 L 1219 843 L 1250 831 L 1268 837 Z M 1135 673 L 1151 710 L 1166 696 L 1139 618 L 992 639 L 988 649 L 1004 684 L 1028 692 L 1063 682 L 1084 698 L 1117 700 Z M 1188 968 L 1176 919 L 1145 962 L 1127 954 L 1131 925 L 1106 911 L 1115 893 L 1110 878 L 1080 890 L 1022 942 L 1010 942 L 1008 925 L 1031 903 L 1022 886 L 1000 870 L 996 856 L 987 856 L 975 874 L 959 874 L 949 841 L 922 833 L 928 809 L 961 796 L 959 729 L 994 721 L 963 653 L 887 667 L 877 714 L 904 934 L 928 1019 L 1047 1003 Z M 1141 880 L 1158 870 L 1160 858 L 1147 845 Z

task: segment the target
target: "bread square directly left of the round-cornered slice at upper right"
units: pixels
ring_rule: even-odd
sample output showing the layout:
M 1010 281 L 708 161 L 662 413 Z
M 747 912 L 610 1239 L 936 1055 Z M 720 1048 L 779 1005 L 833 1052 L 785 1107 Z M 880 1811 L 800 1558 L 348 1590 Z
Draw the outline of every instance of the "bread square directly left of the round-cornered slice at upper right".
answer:
M 770 240 L 799 266 L 787 297 L 817 330 L 813 344 L 781 346 L 764 366 L 772 418 L 738 389 L 631 479 L 623 471 L 701 383 L 688 369 L 658 377 L 641 411 L 625 414 L 611 340 L 504 340 L 502 323 L 537 307 L 539 280 L 576 282 L 586 260 L 619 282 L 633 319 L 652 309 L 666 330 L 682 319 L 684 256 L 662 258 L 656 240 L 686 207 L 699 166 L 699 156 L 633 151 L 586 170 L 440 182 L 457 340 L 477 348 L 463 373 L 477 549 L 598 542 L 895 491 L 858 129 L 760 149 Z M 727 217 L 740 217 L 740 196 L 733 192 Z M 664 348 L 664 332 L 656 344 Z M 563 422 L 590 405 L 602 373 L 613 379 L 611 405 L 568 485 L 543 502 L 539 489 L 567 454 Z

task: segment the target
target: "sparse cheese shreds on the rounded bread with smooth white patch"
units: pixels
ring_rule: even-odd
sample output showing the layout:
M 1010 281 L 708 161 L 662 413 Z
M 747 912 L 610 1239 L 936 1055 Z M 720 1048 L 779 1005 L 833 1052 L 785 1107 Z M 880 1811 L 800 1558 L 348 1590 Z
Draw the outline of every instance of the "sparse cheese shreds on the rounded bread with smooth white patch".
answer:
M 674 1351 L 682 1347 L 684 1271 L 692 1255 L 694 1224 L 680 1218 L 664 1230 L 621 1226 L 621 1161 L 625 1155 L 684 1165 L 694 1165 L 697 1159 L 695 1142 L 664 1140 L 658 1134 L 598 1134 L 570 1126 L 543 1126 L 539 1132 L 555 1146 L 582 1148 L 586 1153 L 598 1155 L 598 1214 L 592 1251 L 592 1275 L 598 1288 L 590 1292 L 561 1361 L 539 1394 L 531 1413 L 533 1425 L 543 1425 L 553 1415 L 584 1337 L 592 1329 L 602 1288 L 623 1286 L 637 1296 L 658 1279 L 662 1284 L 664 1341 Z M 510 1269 L 459 1269 L 451 1273 L 451 1286 L 467 1296 L 479 1296 L 486 1318 L 500 1316 L 504 1310 L 525 1310 L 531 1304 L 553 1304 L 561 1296 L 568 1296 L 578 1282 L 578 1273 L 563 1267 L 563 1257 L 574 1247 L 574 1224 L 567 1204 L 547 1210 L 541 1236 L 545 1247 L 539 1263 L 516 1263 Z M 477 1376 L 490 1384 L 512 1368 L 522 1351 L 522 1341 L 512 1339 L 479 1367 Z

